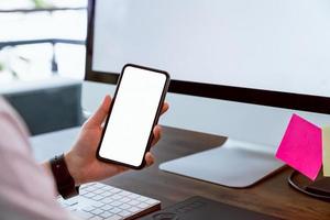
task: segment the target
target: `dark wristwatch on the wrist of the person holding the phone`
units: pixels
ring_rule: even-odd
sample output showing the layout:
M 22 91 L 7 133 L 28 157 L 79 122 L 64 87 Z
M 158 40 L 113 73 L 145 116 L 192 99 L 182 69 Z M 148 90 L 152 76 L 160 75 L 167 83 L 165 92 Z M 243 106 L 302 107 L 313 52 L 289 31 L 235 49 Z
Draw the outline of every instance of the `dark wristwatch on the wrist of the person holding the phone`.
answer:
M 51 167 L 56 182 L 57 191 L 64 199 L 79 195 L 79 186 L 76 187 L 75 179 L 68 172 L 64 154 L 52 158 Z

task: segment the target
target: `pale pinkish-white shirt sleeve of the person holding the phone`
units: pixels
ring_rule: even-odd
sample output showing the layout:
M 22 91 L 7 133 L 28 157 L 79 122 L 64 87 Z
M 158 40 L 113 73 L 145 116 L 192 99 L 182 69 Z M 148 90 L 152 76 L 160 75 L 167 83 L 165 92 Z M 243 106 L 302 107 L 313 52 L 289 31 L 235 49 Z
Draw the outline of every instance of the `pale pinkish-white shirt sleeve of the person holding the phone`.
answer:
M 57 204 L 53 176 L 34 161 L 24 124 L 1 98 L 0 174 L 1 219 L 75 219 Z

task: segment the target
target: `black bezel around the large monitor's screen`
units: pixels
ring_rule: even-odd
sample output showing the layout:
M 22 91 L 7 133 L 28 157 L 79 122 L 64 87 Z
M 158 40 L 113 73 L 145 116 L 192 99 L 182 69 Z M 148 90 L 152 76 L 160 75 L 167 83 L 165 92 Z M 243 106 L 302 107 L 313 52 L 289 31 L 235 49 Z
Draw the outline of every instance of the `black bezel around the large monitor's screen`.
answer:
M 88 0 L 88 28 L 86 41 L 85 80 L 116 85 L 119 78 L 119 73 L 95 72 L 91 68 L 95 2 L 96 0 Z M 222 99 L 268 107 L 278 107 L 318 113 L 330 113 L 330 97 L 233 87 L 226 85 L 193 82 L 174 79 L 170 80 L 168 91 L 174 94 Z

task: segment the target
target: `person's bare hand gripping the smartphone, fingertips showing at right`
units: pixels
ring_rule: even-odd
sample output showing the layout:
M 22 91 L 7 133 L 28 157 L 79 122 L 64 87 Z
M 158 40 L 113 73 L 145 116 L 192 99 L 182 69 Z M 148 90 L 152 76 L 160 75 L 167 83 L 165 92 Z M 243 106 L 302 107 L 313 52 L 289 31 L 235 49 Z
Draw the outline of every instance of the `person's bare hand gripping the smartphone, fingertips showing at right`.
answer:
M 103 122 L 109 113 L 110 105 L 111 98 L 110 96 L 106 96 L 95 114 L 84 123 L 78 140 L 73 148 L 65 154 L 68 170 L 77 186 L 88 182 L 101 180 L 129 169 L 124 166 L 100 162 L 96 157 L 96 151 L 102 135 Z M 166 112 L 167 109 L 168 105 L 165 102 L 162 113 Z M 153 134 L 152 145 L 155 145 L 161 139 L 160 125 L 154 128 Z M 145 154 L 145 162 L 146 166 L 154 163 L 154 157 L 151 152 Z

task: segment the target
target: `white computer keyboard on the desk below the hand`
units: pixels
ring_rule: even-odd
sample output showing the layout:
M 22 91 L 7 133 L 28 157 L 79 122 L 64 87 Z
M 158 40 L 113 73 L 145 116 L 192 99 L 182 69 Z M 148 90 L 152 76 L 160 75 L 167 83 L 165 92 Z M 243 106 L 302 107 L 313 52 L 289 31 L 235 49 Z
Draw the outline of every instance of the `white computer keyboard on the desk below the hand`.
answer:
M 136 219 L 161 209 L 156 199 L 101 183 L 82 185 L 79 191 L 79 196 L 57 200 L 81 219 Z

